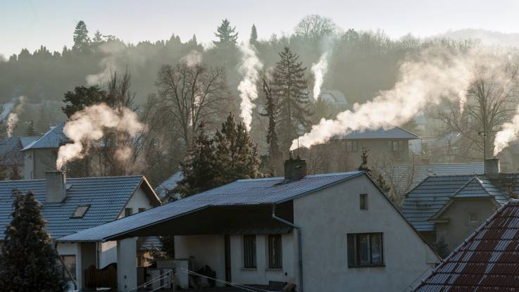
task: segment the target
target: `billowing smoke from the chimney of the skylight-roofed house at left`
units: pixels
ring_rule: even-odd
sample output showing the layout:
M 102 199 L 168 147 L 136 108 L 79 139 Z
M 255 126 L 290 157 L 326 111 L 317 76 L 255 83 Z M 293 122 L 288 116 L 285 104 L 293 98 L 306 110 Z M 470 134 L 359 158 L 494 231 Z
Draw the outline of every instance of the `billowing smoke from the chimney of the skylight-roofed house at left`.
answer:
M 63 127 L 63 134 L 73 143 L 59 148 L 56 168 L 61 170 L 66 162 L 82 158 L 86 151 L 83 143 L 101 139 L 106 129 L 117 129 L 134 137 L 135 134 L 144 130 L 145 126 L 139 122 L 137 114 L 128 108 L 123 108 L 122 113 L 117 113 L 106 103 L 88 106 L 74 113 Z M 128 150 L 123 148 L 116 152 L 116 158 L 128 157 Z

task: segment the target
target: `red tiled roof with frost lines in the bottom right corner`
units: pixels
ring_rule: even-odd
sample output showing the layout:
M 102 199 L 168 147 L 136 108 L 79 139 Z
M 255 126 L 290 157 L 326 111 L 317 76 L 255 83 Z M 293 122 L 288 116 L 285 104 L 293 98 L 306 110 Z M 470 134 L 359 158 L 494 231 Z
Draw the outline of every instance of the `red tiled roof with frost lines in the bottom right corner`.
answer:
M 501 207 L 415 291 L 519 291 L 519 200 Z

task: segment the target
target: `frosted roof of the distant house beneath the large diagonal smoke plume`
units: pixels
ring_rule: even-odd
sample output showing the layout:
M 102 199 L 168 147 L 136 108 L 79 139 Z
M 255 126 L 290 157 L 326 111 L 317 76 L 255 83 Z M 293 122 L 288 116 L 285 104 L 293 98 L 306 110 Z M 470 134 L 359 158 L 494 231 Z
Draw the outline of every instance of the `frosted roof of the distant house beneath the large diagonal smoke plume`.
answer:
M 341 140 L 361 140 L 361 139 L 418 139 L 415 134 L 402 129 L 401 127 L 389 127 L 379 129 L 365 129 L 363 131 L 346 131 L 344 134 L 335 135 L 333 139 Z

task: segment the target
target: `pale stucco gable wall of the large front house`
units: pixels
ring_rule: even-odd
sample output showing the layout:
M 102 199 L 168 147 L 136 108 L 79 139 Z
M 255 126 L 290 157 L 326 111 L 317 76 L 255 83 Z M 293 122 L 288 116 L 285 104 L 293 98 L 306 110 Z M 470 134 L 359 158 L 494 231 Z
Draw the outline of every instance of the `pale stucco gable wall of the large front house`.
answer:
M 368 194 L 360 210 L 359 194 Z M 405 291 L 437 258 L 365 176 L 294 200 L 304 291 Z M 349 268 L 346 234 L 382 232 L 384 267 Z M 422 275 L 422 276 L 420 276 Z

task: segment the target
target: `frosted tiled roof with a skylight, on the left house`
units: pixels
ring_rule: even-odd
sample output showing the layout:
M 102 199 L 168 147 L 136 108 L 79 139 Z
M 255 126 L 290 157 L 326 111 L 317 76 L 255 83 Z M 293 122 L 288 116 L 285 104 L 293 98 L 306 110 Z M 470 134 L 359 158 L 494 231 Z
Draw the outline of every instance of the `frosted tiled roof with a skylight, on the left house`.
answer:
M 139 186 L 145 189 L 151 199 L 155 196 L 157 205 L 160 204 L 142 175 L 69 178 L 67 186 L 67 196 L 63 203 L 46 203 L 45 179 L 0 181 L 0 234 L 4 234 L 12 220 L 15 199 L 13 189 L 22 193 L 35 193 L 37 201 L 42 203 L 43 217 L 49 222 L 46 229 L 54 239 L 117 219 Z M 85 216 L 71 218 L 80 205 L 89 205 Z

